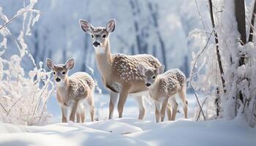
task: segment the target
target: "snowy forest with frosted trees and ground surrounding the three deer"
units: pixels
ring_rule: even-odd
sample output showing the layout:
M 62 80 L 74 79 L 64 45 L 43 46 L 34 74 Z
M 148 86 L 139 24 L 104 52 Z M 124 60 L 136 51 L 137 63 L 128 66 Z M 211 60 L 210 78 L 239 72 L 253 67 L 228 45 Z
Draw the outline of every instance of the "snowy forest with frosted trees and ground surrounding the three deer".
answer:
M 255 0 L 0 0 L 0 145 L 256 145 L 255 15 Z M 165 72 L 180 69 L 188 118 L 174 96 L 176 120 L 156 123 L 157 104 L 148 94 L 144 119 L 134 97 L 123 117 L 118 103 L 108 119 L 111 92 L 80 19 L 95 28 L 116 20 L 111 53 L 150 54 Z M 64 66 L 74 58 L 69 76 L 93 78 L 92 122 L 86 111 L 86 123 L 61 123 L 47 58 Z

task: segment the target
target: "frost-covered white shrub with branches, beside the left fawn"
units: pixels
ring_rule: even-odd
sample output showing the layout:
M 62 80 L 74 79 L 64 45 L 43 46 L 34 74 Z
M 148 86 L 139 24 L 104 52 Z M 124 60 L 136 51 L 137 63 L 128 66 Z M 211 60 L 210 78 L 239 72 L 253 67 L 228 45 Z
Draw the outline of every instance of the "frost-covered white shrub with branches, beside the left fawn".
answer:
M 16 123 L 22 125 L 39 125 L 45 123 L 50 114 L 46 110 L 46 104 L 53 91 L 53 82 L 50 81 L 50 73 L 34 64 L 34 59 L 29 53 L 25 37 L 30 35 L 31 27 L 39 19 L 39 10 L 34 9 L 36 0 L 30 0 L 29 4 L 16 12 L 16 15 L 9 19 L 1 11 L 0 18 L 4 25 L 0 26 L 2 42 L 0 43 L 0 121 L 5 123 Z M 25 4 L 25 2 L 24 2 Z M 23 27 L 17 39 L 12 36 L 8 24 L 15 18 L 23 16 Z M 18 28 L 18 27 L 17 27 Z M 17 31 L 17 30 L 16 30 Z M 11 55 L 10 59 L 1 56 L 7 47 L 7 37 L 14 39 L 19 54 Z M 27 74 L 21 66 L 21 61 L 29 56 L 34 64 L 34 70 Z

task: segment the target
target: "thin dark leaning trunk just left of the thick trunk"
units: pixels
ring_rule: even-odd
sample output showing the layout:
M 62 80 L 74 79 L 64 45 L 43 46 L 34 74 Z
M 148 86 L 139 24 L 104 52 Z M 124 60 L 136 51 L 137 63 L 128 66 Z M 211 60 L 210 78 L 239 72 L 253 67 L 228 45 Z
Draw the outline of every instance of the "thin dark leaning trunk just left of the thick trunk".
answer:
M 215 28 L 215 24 L 214 24 L 214 13 L 213 13 L 213 10 L 212 10 L 212 2 L 211 0 L 208 0 L 209 2 L 209 7 L 210 7 L 210 14 L 211 14 L 211 25 L 213 27 L 213 29 Z M 218 40 L 218 35 L 217 35 L 217 32 L 214 30 L 214 37 L 215 37 L 215 44 L 216 44 L 216 53 L 217 53 L 217 59 L 218 59 L 218 64 L 219 64 L 219 72 L 220 72 L 220 77 L 222 79 L 222 88 L 223 88 L 223 91 L 224 93 L 226 93 L 226 90 L 225 90 L 225 80 L 224 80 L 224 77 L 223 77 L 223 68 L 222 68 L 222 60 L 220 58 L 220 53 L 219 53 L 219 40 Z

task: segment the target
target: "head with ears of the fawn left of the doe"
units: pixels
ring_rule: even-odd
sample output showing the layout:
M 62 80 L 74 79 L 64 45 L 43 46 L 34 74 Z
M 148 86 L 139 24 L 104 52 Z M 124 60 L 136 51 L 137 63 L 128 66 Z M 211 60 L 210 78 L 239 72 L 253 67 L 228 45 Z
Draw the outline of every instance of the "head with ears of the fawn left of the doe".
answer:
M 50 59 L 46 60 L 48 69 L 53 71 L 54 80 L 57 83 L 64 82 L 67 79 L 67 72 L 75 66 L 75 60 L 70 59 L 66 64 L 53 64 Z

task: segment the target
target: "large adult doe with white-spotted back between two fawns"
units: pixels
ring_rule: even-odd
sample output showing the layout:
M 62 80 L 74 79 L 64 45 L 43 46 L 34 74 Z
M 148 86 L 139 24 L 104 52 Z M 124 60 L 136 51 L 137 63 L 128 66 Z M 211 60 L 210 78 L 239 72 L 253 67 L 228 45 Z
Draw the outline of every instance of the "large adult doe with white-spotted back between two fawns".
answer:
M 152 55 L 124 55 L 121 53 L 110 53 L 110 34 L 116 28 L 116 20 L 110 20 L 106 27 L 96 27 L 86 20 L 80 20 L 80 26 L 87 34 L 91 35 L 92 45 L 96 53 L 97 67 L 102 75 L 102 81 L 106 88 L 110 90 L 109 119 L 113 117 L 117 96 L 118 115 L 122 118 L 124 104 L 128 94 L 135 96 L 138 101 L 140 114 L 138 118 L 143 119 L 145 108 L 143 105 L 143 95 L 148 93 L 143 79 L 143 74 L 138 72 L 137 66 L 141 62 L 157 68 L 160 62 Z

